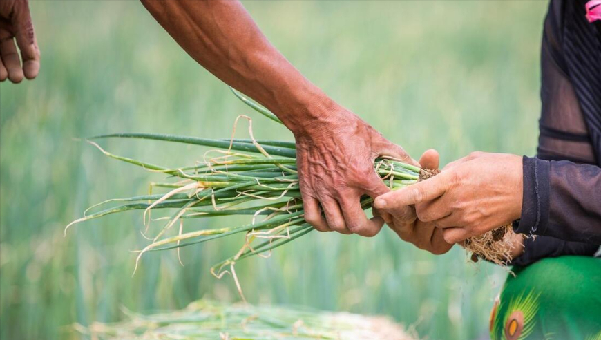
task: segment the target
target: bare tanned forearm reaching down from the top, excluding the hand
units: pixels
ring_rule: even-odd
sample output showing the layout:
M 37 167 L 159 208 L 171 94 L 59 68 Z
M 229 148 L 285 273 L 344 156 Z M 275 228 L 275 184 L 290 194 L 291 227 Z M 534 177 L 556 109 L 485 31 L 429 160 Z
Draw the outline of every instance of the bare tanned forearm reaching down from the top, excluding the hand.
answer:
M 199 64 L 269 108 L 296 134 L 336 111 L 260 32 L 239 1 L 142 0 Z

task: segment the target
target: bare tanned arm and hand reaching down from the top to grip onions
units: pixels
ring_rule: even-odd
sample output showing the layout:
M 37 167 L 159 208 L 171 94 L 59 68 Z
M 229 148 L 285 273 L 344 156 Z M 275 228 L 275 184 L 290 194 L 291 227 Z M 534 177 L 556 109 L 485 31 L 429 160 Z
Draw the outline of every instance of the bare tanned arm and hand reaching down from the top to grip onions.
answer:
M 368 220 L 359 198 L 388 191 L 373 169 L 377 156 L 414 163 L 401 147 L 303 77 L 269 44 L 239 1 L 142 3 L 193 59 L 269 108 L 294 133 L 307 222 L 321 231 L 379 232 L 383 220 Z

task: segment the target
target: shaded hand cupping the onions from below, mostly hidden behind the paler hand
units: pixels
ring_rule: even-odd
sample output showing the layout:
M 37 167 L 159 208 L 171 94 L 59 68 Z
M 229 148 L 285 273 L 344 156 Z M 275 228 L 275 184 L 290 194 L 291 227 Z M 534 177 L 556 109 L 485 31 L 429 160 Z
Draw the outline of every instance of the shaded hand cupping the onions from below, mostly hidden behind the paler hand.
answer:
M 438 169 L 438 152 L 433 149 L 424 152 L 419 159 L 419 164 L 426 169 Z M 446 243 L 443 238 L 443 229 L 435 227 L 432 222 L 416 219 L 412 206 L 409 209 L 413 213 L 412 216 L 408 216 L 406 210 L 407 207 L 398 206 L 392 206 L 385 210 L 374 207 L 374 216 L 382 216 L 390 229 L 394 230 L 402 240 L 413 243 L 419 249 L 437 255 L 444 254 L 451 249 L 452 244 Z

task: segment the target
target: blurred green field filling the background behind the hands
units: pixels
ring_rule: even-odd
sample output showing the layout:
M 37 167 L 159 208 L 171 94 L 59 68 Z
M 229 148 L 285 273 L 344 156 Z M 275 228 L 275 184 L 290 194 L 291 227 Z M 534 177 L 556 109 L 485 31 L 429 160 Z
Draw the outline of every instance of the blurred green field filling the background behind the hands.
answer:
M 309 79 L 414 158 L 470 151 L 531 155 L 547 1 L 245 1 L 267 37 Z M 228 137 L 256 117 L 257 138 L 292 139 L 195 64 L 137 1 L 31 1 L 39 78 L 0 85 L 1 339 L 73 339 L 71 323 L 236 301 L 209 267 L 241 240 L 148 254 L 132 278 L 142 214 L 63 228 L 106 198 L 160 180 L 73 138 L 112 132 Z M 241 130 L 239 130 L 241 131 Z M 240 133 L 240 137 L 245 137 Z M 112 140 L 115 153 L 186 165 L 203 149 Z M 219 220 L 195 223 L 216 225 Z M 193 223 L 187 228 L 192 229 Z M 388 314 L 428 339 L 486 337 L 505 273 L 461 249 L 433 256 L 384 230 L 318 234 L 237 266 L 249 301 Z

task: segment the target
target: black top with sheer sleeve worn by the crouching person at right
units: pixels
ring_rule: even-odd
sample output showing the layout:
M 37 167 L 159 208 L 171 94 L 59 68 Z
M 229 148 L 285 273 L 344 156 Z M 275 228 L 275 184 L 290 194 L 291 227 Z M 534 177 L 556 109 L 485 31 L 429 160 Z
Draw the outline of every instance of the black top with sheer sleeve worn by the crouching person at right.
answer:
M 586 0 L 551 0 L 541 50 L 542 114 L 537 158 L 524 158 L 522 217 L 527 265 L 601 245 L 601 30 Z

